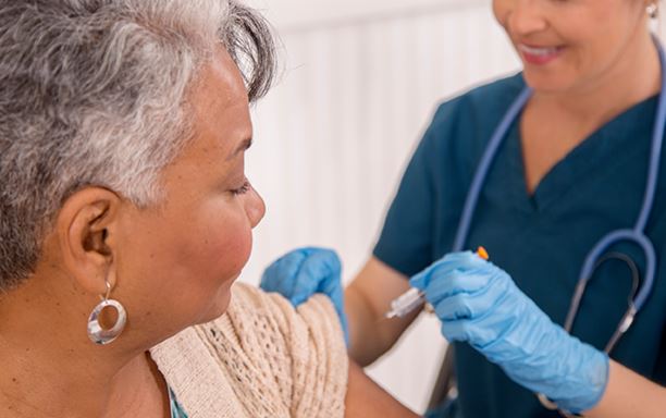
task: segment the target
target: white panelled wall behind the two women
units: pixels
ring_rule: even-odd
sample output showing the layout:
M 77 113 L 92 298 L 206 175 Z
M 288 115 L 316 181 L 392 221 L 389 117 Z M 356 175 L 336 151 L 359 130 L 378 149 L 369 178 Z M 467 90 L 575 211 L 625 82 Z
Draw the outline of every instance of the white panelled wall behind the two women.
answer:
M 280 78 L 254 109 L 248 177 L 267 202 L 242 280 L 306 245 L 366 262 L 439 102 L 519 71 L 491 0 L 249 0 L 280 37 Z M 423 411 L 446 342 L 422 315 L 367 372 Z

